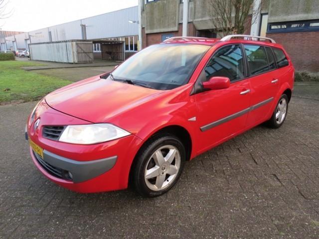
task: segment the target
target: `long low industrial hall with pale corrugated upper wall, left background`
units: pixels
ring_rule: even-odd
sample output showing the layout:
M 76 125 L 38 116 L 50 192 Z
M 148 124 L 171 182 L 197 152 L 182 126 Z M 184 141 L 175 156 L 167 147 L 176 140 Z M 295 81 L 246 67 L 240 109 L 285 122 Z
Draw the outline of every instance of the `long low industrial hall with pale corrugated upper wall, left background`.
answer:
M 124 60 L 138 51 L 138 22 L 138 6 L 134 6 L 2 37 L 0 47 L 1 50 L 17 50 L 28 49 L 29 44 L 46 44 L 47 48 L 44 45 L 36 48 L 49 49 L 52 42 L 86 40 L 92 42 L 94 59 Z M 52 60 L 49 55 L 40 57 L 41 60 Z

